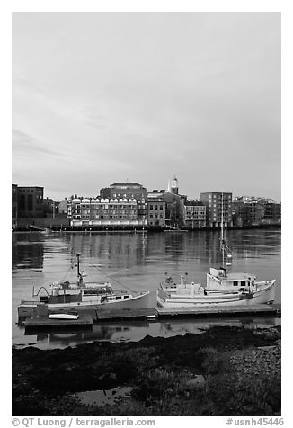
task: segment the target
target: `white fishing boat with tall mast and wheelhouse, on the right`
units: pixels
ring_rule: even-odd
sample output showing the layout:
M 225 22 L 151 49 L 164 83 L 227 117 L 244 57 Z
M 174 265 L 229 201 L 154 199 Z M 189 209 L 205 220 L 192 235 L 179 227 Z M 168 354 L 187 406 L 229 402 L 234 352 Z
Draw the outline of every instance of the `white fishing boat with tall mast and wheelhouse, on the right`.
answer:
M 241 306 L 273 303 L 276 280 L 257 281 L 256 276 L 246 272 L 228 272 L 232 265 L 232 252 L 227 246 L 223 219 L 223 195 L 220 250 L 222 266 L 210 268 L 205 285 L 188 280 L 188 274 L 181 275 L 176 283 L 165 273 L 165 279 L 157 290 L 157 304 L 162 308 L 192 306 Z

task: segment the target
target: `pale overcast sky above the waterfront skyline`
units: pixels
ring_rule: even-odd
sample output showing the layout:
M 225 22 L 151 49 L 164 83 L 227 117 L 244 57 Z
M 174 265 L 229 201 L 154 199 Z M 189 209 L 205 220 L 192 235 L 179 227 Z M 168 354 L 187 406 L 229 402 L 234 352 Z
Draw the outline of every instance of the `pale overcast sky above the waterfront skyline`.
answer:
M 13 13 L 13 183 L 280 201 L 280 13 Z

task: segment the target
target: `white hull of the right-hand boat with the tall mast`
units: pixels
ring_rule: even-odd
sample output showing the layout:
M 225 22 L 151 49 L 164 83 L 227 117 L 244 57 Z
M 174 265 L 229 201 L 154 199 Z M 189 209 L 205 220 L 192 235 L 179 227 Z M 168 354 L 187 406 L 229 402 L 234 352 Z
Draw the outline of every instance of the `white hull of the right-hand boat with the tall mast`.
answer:
M 267 286 L 262 290 L 257 290 L 251 294 L 244 295 L 240 293 L 236 294 L 219 294 L 208 296 L 168 296 L 164 290 L 157 291 L 157 304 L 162 308 L 184 308 L 192 306 L 249 306 L 259 305 L 263 303 L 272 303 L 275 296 L 275 280 L 267 281 Z

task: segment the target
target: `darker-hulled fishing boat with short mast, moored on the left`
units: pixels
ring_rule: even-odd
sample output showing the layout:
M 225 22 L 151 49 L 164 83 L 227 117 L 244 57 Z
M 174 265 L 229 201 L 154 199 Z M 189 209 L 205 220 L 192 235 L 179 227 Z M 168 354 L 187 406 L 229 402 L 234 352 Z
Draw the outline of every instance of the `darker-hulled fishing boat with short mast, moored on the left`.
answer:
M 146 308 L 149 291 L 113 290 L 110 282 L 84 282 L 80 271 L 80 254 L 77 254 L 77 281 L 70 283 L 53 282 L 49 289 L 40 287 L 37 292 L 32 289 L 32 299 L 24 299 L 17 307 L 18 317 L 31 317 L 41 312 L 66 314 L 77 311 L 96 316 L 99 309 Z

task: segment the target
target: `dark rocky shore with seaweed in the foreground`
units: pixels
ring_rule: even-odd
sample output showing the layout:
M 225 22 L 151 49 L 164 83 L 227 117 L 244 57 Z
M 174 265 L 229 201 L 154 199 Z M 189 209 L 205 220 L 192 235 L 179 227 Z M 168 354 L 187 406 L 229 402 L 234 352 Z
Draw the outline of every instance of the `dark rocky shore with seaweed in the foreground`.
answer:
M 13 348 L 14 416 L 272 416 L 280 389 L 280 326 Z

